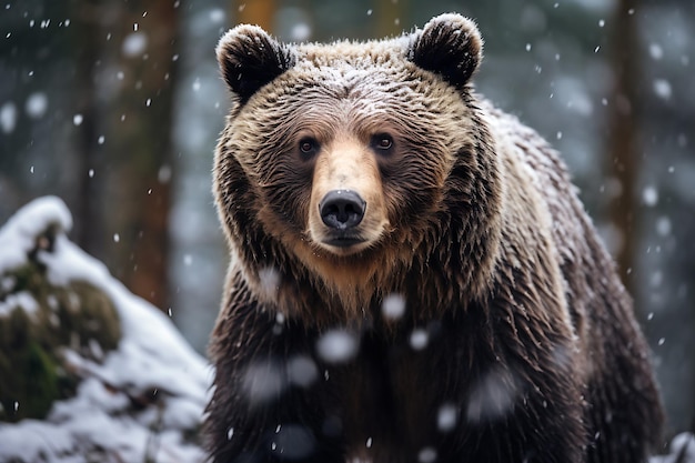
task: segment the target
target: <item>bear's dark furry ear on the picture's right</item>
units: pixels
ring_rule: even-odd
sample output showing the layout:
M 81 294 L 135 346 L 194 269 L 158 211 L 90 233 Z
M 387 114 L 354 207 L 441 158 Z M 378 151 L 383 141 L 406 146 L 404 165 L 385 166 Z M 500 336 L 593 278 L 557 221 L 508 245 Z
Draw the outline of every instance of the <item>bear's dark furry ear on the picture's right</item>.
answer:
M 472 20 L 441 14 L 413 33 L 407 58 L 452 85 L 463 87 L 483 58 L 483 39 Z

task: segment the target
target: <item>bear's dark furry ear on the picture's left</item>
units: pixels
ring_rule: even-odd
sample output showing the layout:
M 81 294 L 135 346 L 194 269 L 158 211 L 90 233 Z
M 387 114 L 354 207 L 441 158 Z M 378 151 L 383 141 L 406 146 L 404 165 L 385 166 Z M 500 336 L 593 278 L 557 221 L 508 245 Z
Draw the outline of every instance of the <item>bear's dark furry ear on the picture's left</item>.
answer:
M 215 49 L 222 77 L 241 104 L 296 63 L 293 50 L 258 26 L 226 32 Z

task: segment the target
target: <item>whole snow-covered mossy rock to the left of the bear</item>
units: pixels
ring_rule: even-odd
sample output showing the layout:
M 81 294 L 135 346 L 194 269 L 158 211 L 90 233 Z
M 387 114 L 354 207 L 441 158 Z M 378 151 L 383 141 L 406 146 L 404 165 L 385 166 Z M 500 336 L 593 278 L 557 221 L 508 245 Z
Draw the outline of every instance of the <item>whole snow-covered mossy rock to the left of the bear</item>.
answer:
M 204 461 L 211 368 L 71 223 L 42 198 L 0 229 L 0 462 Z

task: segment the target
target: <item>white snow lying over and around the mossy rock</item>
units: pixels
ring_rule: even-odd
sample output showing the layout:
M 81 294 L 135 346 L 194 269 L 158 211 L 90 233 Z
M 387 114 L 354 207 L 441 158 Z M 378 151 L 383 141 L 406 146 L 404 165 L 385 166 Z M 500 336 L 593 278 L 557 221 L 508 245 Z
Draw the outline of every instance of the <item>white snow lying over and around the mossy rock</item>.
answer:
M 71 223 L 57 198 L 20 210 L 0 229 L 0 275 L 26 264 L 37 238 L 53 227 L 53 251 L 38 256 L 48 279 L 57 285 L 85 281 L 102 290 L 118 311 L 123 336 L 102 363 L 66 352 L 82 379 L 77 395 L 56 402 L 43 421 L 0 423 L 0 462 L 202 462 L 195 435 L 211 368 L 162 312 L 68 240 Z

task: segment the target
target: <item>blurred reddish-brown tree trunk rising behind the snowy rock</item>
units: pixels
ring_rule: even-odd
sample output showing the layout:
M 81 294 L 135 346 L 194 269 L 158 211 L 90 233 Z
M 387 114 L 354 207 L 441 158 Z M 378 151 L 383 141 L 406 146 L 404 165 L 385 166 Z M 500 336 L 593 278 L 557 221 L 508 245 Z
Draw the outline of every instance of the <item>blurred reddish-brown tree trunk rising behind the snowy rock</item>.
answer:
M 104 193 L 119 204 L 117 214 L 102 211 L 119 235 L 109 262 L 133 292 L 162 310 L 169 305 L 178 12 L 178 2 L 159 0 L 129 1 L 118 11 L 103 11 L 114 18 L 107 44 L 115 48 L 110 53 L 113 62 L 104 71 L 115 71 L 117 85 L 102 121 L 110 135 L 104 142 Z

